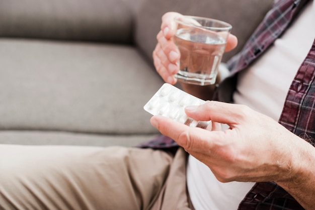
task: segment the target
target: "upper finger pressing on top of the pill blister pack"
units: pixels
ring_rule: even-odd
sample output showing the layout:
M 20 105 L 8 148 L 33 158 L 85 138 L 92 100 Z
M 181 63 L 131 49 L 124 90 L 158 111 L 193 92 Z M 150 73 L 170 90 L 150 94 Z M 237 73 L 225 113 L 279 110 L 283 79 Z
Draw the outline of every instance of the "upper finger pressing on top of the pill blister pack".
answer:
M 187 116 L 199 120 L 212 120 L 217 123 L 229 126 L 237 125 L 249 115 L 250 110 L 243 105 L 224 103 L 219 101 L 207 101 L 200 106 L 190 106 L 185 108 Z

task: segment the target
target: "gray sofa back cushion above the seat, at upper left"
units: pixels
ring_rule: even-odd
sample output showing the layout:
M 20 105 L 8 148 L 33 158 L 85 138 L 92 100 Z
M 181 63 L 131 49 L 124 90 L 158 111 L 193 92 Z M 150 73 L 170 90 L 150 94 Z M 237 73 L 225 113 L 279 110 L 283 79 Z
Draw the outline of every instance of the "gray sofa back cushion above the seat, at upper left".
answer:
M 1 0 L 0 36 L 131 43 L 142 0 Z

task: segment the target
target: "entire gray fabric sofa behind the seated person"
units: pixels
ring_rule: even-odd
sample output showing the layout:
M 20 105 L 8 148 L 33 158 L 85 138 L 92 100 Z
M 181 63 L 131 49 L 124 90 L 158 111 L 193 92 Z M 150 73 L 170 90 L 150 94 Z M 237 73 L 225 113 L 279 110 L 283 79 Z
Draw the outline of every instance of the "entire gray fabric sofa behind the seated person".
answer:
M 237 53 L 271 0 L 0 0 L 0 144 L 135 146 L 164 83 L 151 54 L 165 12 L 232 24 Z

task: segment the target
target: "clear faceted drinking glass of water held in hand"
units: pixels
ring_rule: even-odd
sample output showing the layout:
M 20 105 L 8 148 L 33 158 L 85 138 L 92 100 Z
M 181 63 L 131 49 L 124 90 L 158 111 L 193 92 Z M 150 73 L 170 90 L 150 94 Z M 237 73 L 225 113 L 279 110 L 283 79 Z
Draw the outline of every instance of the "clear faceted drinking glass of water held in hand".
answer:
M 178 61 L 180 70 L 175 77 L 190 84 L 214 84 L 232 26 L 223 21 L 194 16 L 181 16 L 175 22 L 174 42 L 181 54 Z

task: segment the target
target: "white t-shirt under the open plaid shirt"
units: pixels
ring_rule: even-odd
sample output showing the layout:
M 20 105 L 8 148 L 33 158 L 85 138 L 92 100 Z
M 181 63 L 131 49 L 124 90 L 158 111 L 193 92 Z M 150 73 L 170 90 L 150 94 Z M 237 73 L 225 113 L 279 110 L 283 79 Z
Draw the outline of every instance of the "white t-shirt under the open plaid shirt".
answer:
M 289 86 L 314 41 L 314 20 L 315 4 L 311 1 L 268 52 L 240 72 L 233 94 L 235 103 L 245 104 L 278 121 Z M 237 209 L 254 184 L 221 183 L 206 165 L 189 156 L 187 186 L 196 210 Z

